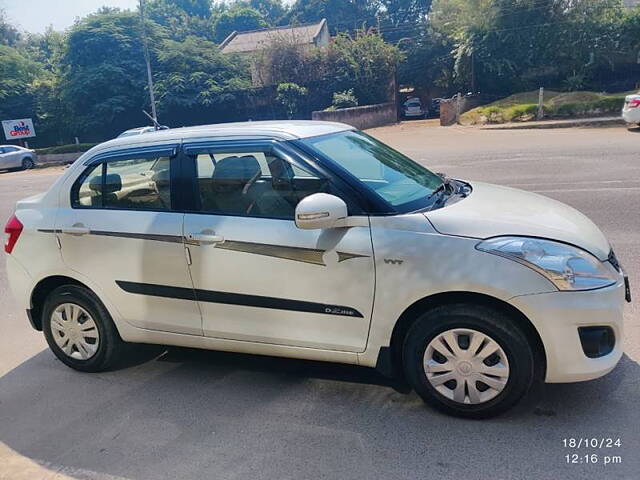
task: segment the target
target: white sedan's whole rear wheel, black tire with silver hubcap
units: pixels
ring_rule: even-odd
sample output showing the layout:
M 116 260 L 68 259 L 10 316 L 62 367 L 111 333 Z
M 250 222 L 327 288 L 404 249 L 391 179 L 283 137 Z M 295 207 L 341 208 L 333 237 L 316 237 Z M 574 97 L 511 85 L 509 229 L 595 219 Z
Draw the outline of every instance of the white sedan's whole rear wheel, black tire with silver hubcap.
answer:
M 82 372 L 102 372 L 126 357 L 127 344 L 91 290 L 77 285 L 58 287 L 45 300 L 42 312 L 49 348 L 65 365 Z

